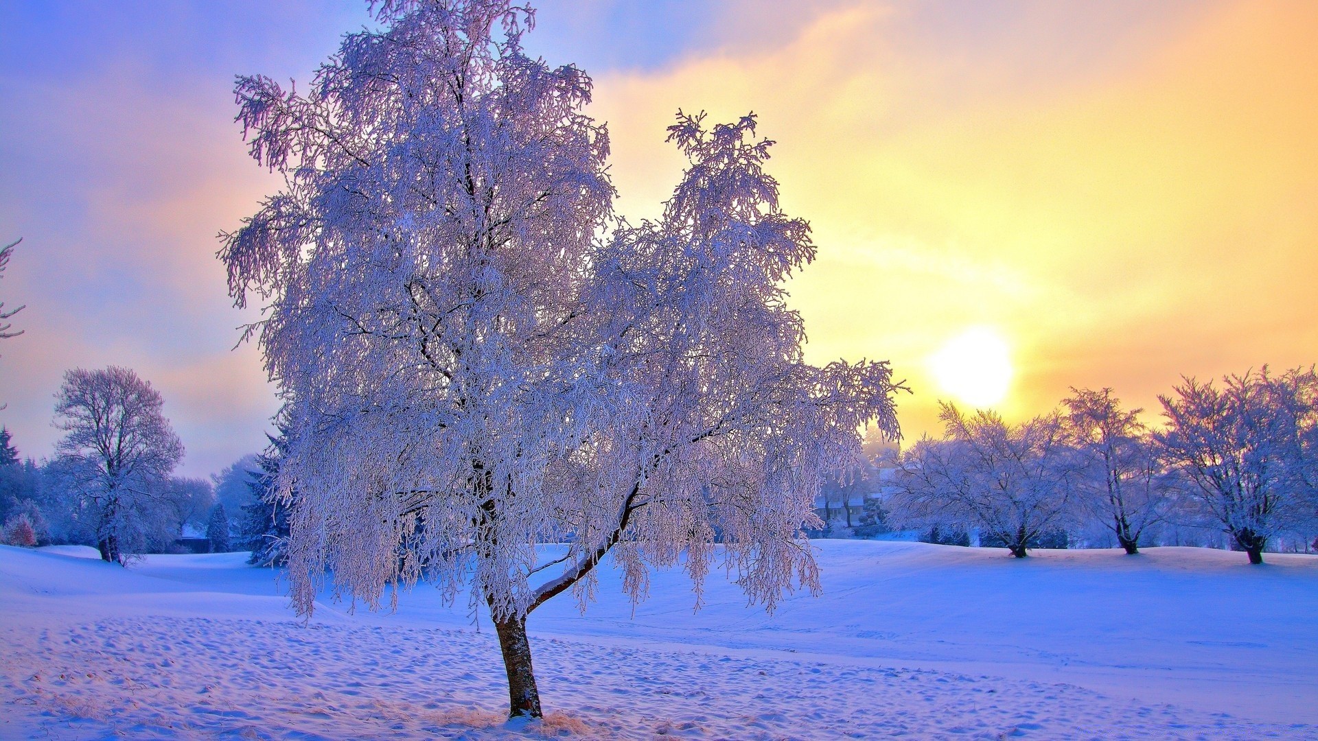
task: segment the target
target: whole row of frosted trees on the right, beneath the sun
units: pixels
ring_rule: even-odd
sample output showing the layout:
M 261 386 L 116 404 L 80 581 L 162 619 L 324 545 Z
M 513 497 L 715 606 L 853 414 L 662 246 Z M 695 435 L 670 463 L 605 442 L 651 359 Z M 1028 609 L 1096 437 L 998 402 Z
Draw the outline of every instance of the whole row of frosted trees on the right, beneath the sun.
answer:
M 1126 552 L 1160 526 L 1223 531 L 1263 563 L 1269 539 L 1318 522 L 1318 374 L 1188 378 L 1159 397 L 1164 425 L 1111 389 L 1072 389 L 1019 425 L 942 405 L 945 435 L 905 451 L 887 500 L 903 526 L 977 529 L 1024 558 L 1050 533 L 1102 523 Z

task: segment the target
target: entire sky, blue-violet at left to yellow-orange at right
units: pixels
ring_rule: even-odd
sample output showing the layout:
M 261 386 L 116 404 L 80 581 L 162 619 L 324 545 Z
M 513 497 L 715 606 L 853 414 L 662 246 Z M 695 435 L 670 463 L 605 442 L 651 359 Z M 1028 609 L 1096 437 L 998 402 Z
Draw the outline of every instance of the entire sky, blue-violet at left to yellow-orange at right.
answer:
M 907 439 L 940 400 L 1023 419 L 1111 386 L 1156 422 L 1182 376 L 1318 361 L 1318 3 L 536 5 L 527 47 L 593 76 L 627 216 L 676 185 L 679 108 L 759 116 L 818 248 L 788 285 L 807 360 L 890 360 Z M 264 447 L 274 389 L 237 344 L 258 314 L 215 252 L 279 182 L 233 75 L 304 83 L 369 22 L 352 0 L 0 4 L 22 455 L 51 454 L 63 372 L 111 364 L 163 394 L 182 473 Z

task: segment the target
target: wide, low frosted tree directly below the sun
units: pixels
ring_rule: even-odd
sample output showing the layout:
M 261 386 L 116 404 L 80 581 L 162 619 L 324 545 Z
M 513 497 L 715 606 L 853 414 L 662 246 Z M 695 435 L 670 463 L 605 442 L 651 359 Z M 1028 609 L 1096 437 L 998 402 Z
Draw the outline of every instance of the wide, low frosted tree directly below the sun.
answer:
M 902 522 L 978 527 L 1016 558 L 1068 523 L 1072 472 L 1056 414 L 1008 425 L 991 410 L 966 417 L 942 403 L 940 419 L 944 439 L 902 456 L 888 502 Z

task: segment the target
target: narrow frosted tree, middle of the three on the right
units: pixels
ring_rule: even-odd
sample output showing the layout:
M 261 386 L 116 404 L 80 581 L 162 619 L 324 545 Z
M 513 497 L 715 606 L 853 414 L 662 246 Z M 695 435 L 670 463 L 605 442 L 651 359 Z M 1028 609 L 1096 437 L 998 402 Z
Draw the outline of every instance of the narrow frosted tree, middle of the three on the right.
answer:
M 1116 535 L 1127 554 L 1174 504 L 1177 476 L 1160 460 L 1140 409 L 1123 410 L 1112 389 L 1072 389 L 1062 426 L 1075 455 L 1075 504 Z

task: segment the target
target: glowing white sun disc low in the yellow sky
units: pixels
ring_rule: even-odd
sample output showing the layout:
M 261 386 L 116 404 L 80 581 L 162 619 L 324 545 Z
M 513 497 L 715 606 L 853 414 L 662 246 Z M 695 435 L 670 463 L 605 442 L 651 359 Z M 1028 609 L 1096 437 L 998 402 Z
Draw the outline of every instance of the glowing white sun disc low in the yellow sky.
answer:
M 971 327 L 929 356 L 929 370 L 944 393 L 961 403 L 986 409 L 1007 396 L 1011 353 L 995 330 Z

